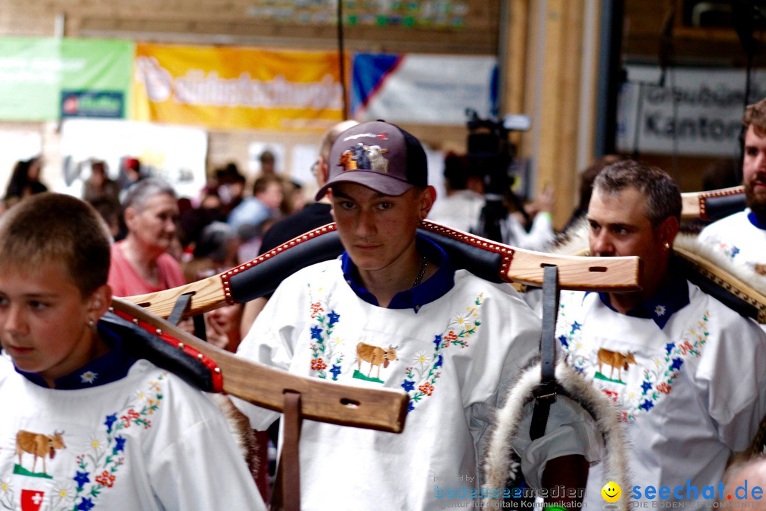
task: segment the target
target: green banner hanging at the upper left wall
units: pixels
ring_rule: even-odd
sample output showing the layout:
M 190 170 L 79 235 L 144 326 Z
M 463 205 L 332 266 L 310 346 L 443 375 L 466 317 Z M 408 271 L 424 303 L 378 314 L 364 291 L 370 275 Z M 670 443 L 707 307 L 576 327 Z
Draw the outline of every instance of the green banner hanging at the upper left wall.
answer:
M 133 54 L 131 41 L 0 38 L 0 120 L 123 117 Z

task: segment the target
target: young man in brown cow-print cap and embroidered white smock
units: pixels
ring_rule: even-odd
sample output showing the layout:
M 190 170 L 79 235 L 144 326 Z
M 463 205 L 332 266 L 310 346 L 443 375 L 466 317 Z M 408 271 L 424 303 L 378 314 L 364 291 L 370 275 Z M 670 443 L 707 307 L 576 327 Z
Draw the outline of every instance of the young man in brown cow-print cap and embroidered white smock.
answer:
M 540 321 L 507 285 L 454 271 L 417 235 L 436 192 L 420 142 L 364 123 L 332 146 L 345 253 L 283 281 L 239 355 L 294 374 L 410 396 L 404 432 L 306 422 L 303 509 L 470 505 L 497 390 L 537 352 Z M 277 417 L 242 405 L 257 429 Z

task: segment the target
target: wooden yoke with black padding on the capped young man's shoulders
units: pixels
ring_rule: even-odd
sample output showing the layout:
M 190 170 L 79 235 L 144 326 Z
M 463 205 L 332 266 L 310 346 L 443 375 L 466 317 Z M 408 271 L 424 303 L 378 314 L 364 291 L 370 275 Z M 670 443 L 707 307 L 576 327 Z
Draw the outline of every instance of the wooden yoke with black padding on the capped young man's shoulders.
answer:
M 557 266 L 561 289 L 611 292 L 640 289 L 638 257 L 577 257 L 528 251 L 431 221 L 423 221 L 418 232 L 443 247 L 456 270 L 466 268 L 492 282 L 542 287 L 543 268 Z M 221 274 L 170 290 L 127 296 L 125 300 L 166 318 L 178 296 L 192 293 L 184 317 L 195 316 L 227 303 L 245 303 L 264 296 L 296 270 L 335 258 L 342 250 L 335 224 L 327 224 Z

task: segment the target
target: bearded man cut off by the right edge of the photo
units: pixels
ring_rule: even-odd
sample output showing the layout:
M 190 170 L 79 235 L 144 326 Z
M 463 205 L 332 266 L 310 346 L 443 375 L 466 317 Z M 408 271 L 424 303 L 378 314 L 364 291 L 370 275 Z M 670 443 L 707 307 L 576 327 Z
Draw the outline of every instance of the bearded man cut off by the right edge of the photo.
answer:
M 745 124 L 742 185 L 745 211 L 713 222 L 699 240 L 709 244 L 734 264 L 766 275 L 766 99 L 749 105 Z

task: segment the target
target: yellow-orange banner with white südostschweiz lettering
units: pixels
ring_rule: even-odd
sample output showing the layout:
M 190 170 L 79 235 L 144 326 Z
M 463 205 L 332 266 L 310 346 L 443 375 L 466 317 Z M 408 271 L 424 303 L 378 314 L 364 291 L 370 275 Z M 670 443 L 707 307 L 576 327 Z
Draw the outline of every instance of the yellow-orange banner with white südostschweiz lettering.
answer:
M 323 130 L 342 110 L 334 52 L 136 44 L 134 120 Z

